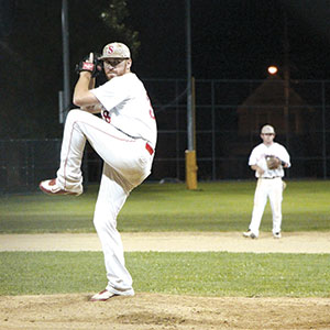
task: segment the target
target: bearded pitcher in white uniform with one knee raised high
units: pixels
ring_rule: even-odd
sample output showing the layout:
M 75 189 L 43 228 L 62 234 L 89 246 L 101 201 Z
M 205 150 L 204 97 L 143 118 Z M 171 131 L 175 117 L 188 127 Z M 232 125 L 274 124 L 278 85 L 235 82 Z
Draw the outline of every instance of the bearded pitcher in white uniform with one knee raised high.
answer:
M 117 216 L 130 191 L 151 173 L 156 145 L 156 121 L 142 81 L 131 72 L 130 50 L 110 43 L 102 55 L 90 53 L 77 66 L 74 103 L 64 128 L 61 166 L 56 178 L 40 184 L 48 195 L 82 194 L 81 158 L 86 140 L 105 161 L 94 224 L 101 241 L 108 285 L 92 301 L 133 296 L 132 277 L 124 265 Z M 95 77 L 103 69 L 108 81 L 98 88 Z M 102 118 L 92 113 L 101 113 Z

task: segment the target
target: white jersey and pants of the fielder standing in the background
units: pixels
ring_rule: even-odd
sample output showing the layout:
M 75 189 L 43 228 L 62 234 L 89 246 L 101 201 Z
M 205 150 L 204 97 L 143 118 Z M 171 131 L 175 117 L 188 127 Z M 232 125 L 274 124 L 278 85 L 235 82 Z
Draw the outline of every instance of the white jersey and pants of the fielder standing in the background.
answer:
M 249 165 L 257 165 L 264 174 L 260 175 L 255 172 L 257 184 L 254 194 L 254 206 L 252 211 L 252 219 L 249 229 L 252 233 L 258 237 L 258 228 L 264 213 L 267 198 L 270 198 L 272 213 L 273 213 L 273 234 L 280 232 L 282 224 L 282 200 L 283 200 L 283 182 L 284 169 L 279 166 L 276 169 L 268 169 L 266 165 L 266 156 L 276 156 L 285 162 L 289 167 L 290 157 L 286 148 L 277 142 L 271 145 L 264 143 L 258 144 L 252 150 L 249 158 Z

